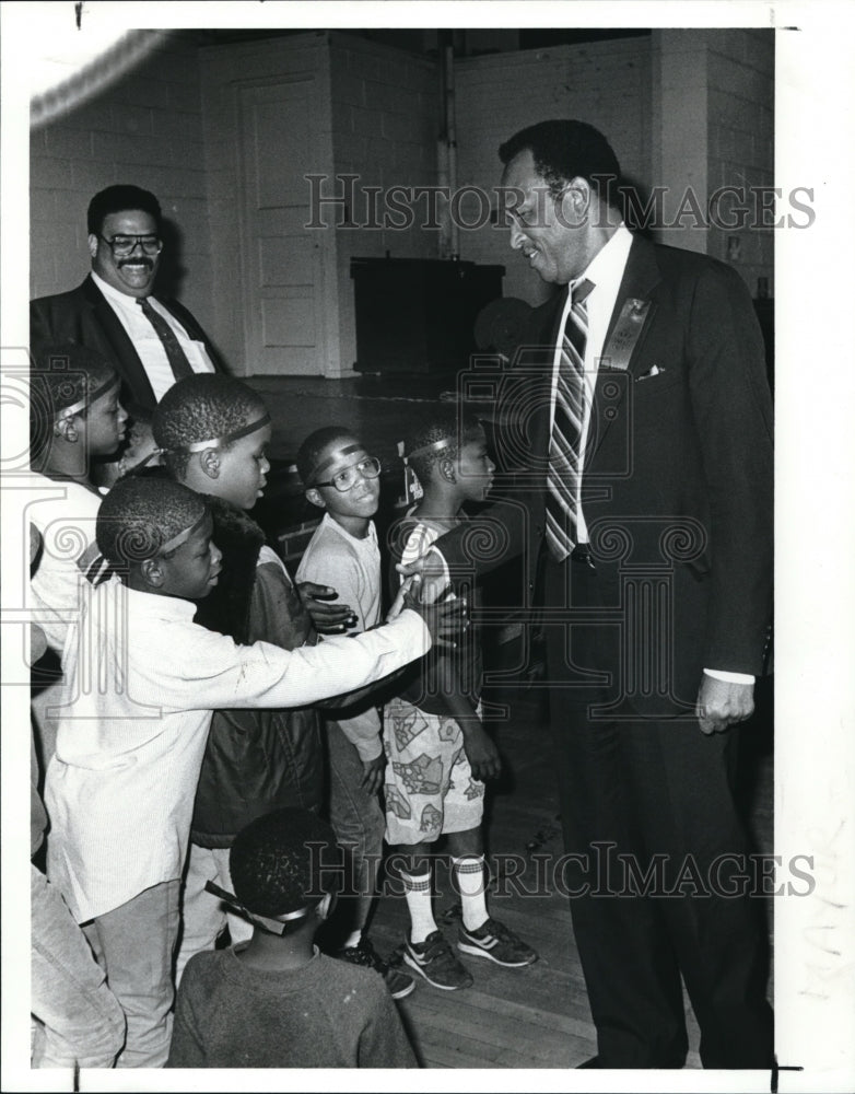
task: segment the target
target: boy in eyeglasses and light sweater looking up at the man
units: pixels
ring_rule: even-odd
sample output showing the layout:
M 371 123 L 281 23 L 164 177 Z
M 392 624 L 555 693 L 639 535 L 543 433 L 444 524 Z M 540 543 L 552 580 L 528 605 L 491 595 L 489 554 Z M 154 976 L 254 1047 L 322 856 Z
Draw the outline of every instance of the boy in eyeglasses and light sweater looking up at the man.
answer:
M 342 603 L 355 613 L 350 632 L 368 630 L 380 618 L 380 551 L 372 520 L 379 503 L 379 461 L 351 430 L 327 426 L 305 439 L 296 463 L 306 499 L 324 510 L 297 580 L 338 590 Z M 353 891 L 341 901 L 337 917 L 348 931 L 338 956 L 355 965 L 379 965 L 393 997 L 401 999 L 412 991 L 412 978 L 387 968 L 366 934 L 385 828 L 377 800 L 386 765 L 380 731 L 379 713 L 371 700 L 352 717 L 327 723 L 330 822 L 352 856 Z

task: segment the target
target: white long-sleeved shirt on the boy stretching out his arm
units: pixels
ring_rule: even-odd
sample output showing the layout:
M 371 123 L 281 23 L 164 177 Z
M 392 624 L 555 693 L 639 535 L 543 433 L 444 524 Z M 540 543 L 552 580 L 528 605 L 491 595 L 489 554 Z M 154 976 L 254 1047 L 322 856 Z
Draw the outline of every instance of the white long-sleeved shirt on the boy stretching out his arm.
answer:
M 114 578 L 93 589 L 80 642 L 66 642 L 68 684 L 45 787 L 47 864 L 80 923 L 180 876 L 213 710 L 309 706 L 431 647 L 410 610 L 356 638 L 290 652 L 236 645 L 195 624 L 195 612 Z

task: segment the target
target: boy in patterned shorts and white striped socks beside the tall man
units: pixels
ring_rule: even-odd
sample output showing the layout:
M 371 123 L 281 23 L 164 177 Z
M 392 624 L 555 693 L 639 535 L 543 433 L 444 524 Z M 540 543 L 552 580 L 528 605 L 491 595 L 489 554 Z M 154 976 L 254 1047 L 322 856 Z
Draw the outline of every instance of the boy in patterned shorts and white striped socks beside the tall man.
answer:
M 481 502 L 495 465 L 480 422 L 458 407 L 437 411 L 407 444 L 424 496 L 391 529 L 394 561 L 408 563 L 465 521 Z M 395 569 L 391 582 L 400 581 Z M 432 909 L 431 848 L 446 836 L 462 905 L 457 948 L 517 968 L 535 951 L 487 910 L 481 833 L 484 779 L 500 772 L 495 745 L 480 719 L 481 657 L 475 628 L 448 655 L 429 654 L 405 672 L 407 686 L 386 706 L 386 839 L 400 864 L 410 932 L 403 959 L 435 988 L 467 988 L 472 977 L 454 955 Z

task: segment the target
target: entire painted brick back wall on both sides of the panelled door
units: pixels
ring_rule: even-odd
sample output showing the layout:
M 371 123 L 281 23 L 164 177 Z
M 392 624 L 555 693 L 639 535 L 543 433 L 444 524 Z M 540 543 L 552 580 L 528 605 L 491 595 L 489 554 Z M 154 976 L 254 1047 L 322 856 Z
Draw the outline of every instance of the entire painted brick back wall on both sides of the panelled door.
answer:
M 239 60 L 248 48 L 218 47 L 218 53 L 227 50 Z M 282 39 L 270 43 L 269 51 L 281 57 L 300 48 L 307 47 Z M 358 174 L 364 185 L 380 187 L 436 183 L 438 65 L 340 32 L 317 36 L 315 48 L 326 50 L 329 72 L 330 102 L 318 104 L 318 116 L 330 119 L 332 173 Z M 524 125 L 562 115 L 602 129 L 624 172 L 643 186 L 661 183 L 677 193 L 691 182 L 705 200 L 711 187 L 771 184 L 773 61 L 772 32 L 757 30 L 659 31 L 461 58 L 455 67 L 458 186 L 492 190 L 501 141 Z M 250 71 L 258 78 L 255 68 Z M 36 130 L 32 294 L 58 292 L 82 279 L 89 269 L 85 209 L 91 196 L 112 183 L 134 182 L 157 194 L 178 233 L 186 274 L 176 294 L 215 339 L 222 333 L 239 365 L 239 316 L 230 311 L 239 276 L 233 152 L 234 142 L 221 148 L 203 130 L 199 50 L 181 34 L 80 109 Z M 221 175 L 229 176 L 229 186 L 220 186 Z M 464 211 L 471 213 L 471 207 Z M 440 234 L 418 223 L 397 231 L 331 231 L 324 299 L 335 347 L 328 348 L 327 373 L 347 375 L 356 357 L 351 257 L 388 251 L 394 257 L 434 258 Z M 753 292 L 758 277 L 768 277 L 771 290 L 773 231 L 739 232 L 736 258 L 727 251 L 733 234 L 714 228 L 696 233 L 694 243 L 684 237 L 688 233 L 674 233 L 668 242 L 734 261 Z M 488 223 L 464 230 L 459 251 L 465 260 L 505 266 L 505 295 L 531 303 L 542 299 L 544 287 L 510 251 L 506 229 Z

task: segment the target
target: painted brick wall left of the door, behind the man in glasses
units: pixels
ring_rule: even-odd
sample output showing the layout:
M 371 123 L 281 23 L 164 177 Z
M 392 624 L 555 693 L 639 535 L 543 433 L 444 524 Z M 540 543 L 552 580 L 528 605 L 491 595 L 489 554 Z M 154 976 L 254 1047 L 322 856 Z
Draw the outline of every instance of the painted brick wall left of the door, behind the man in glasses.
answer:
M 186 276 L 175 295 L 210 327 L 211 253 L 196 47 L 180 35 L 99 95 L 31 136 L 31 294 L 90 269 L 86 206 L 114 183 L 152 190 Z M 173 251 L 175 254 L 175 251 Z

